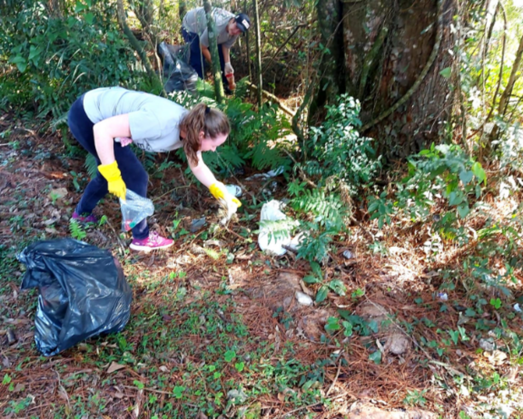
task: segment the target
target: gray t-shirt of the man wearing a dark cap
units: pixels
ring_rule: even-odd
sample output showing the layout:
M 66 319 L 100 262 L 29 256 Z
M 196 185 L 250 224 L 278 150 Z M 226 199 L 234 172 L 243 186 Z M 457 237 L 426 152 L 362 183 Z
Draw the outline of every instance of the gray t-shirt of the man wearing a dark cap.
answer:
M 229 21 L 234 17 L 234 15 L 230 11 L 220 9 L 219 7 L 213 7 L 212 13 L 216 24 L 216 32 L 218 33 L 218 45 L 224 44 L 226 48 L 231 48 L 238 38 L 238 35 L 232 37 L 226 29 Z M 182 25 L 187 32 L 197 33 L 200 37 L 200 43 L 209 48 L 207 16 L 205 15 L 205 9 L 203 7 L 189 10 L 184 16 Z

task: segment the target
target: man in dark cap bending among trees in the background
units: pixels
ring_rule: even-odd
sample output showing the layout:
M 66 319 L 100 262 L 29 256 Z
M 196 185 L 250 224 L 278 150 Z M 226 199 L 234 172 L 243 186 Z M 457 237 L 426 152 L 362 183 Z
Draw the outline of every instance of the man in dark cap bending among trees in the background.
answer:
M 213 17 L 216 24 L 218 53 L 220 55 L 220 68 L 225 90 L 234 90 L 234 68 L 231 65 L 230 49 L 236 42 L 240 33 L 244 33 L 251 26 L 251 20 L 245 13 L 233 15 L 227 10 L 214 7 Z M 211 63 L 209 51 L 209 33 L 207 17 L 203 7 L 189 10 L 184 16 L 181 25 L 181 36 L 189 44 L 189 64 L 200 78 L 204 78 L 204 61 Z M 228 91 L 229 93 L 229 91 Z

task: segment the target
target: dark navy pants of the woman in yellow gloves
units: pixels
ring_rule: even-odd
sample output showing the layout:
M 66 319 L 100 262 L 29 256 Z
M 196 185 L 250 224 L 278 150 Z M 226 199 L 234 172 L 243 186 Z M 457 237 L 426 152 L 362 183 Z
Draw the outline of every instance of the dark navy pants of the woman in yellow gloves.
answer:
M 67 122 L 74 137 L 90 154 L 95 156 L 98 165 L 100 159 L 96 153 L 95 138 L 93 134 L 93 122 L 87 117 L 84 110 L 84 95 L 76 99 L 67 115 Z M 122 147 L 119 143 L 115 144 L 115 157 L 118 162 L 118 168 L 122 173 L 122 179 L 128 189 L 136 192 L 140 196 L 147 197 L 147 182 L 149 177 L 143 168 L 140 160 L 134 155 L 130 146 Z M 97 172 L 96 176 L 91 179 L 80 202 L 76 206 L 78 214 L 90 214 L 95 206 L 107 193 L 107 180 Z M 132 229 L 132 235 L 135 239 L 144 239 L 149 237 L 149 226 L 144 219 Z

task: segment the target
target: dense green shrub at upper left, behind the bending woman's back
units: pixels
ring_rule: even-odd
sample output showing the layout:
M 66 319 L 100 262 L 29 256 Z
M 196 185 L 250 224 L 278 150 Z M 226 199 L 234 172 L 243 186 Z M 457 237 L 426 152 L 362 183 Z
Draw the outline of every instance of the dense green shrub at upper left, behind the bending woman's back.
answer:
M 87 90 L 135 87 L 142 71 L 116 22 L 116 4 L 78 0 L 53 17 L 25 0 L 1 8 L 0 50 L 15 68 L 0 78 L 0 105 L 58 119 Z

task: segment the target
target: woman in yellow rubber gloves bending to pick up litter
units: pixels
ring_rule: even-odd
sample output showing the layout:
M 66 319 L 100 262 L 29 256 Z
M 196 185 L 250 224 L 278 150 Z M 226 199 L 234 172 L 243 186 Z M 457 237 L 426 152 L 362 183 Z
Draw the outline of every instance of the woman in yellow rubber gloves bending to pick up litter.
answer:
M 129 188 L 147 196 L 149 178 L 128 144 L 148 152 L 168 152 L 183 147 L 189 167 L 211 194 L 234 213 L 240 201 L 227 192 L 203 162 L 201 153 L 215 151 L 229 135 L 227 117 L 200 103 L 190 111 L 165 98 L 122 87 L 103 87 L 79 97 L 68 114 L 69 128 L 77 141 L 98 162 L 98 173 L 87 185 L 73 219 L 96 222 L 92 214 L 107 192 L 125 199 Z M 133 250 L 164 249 L 173 240 L 150 232 L 144 219 L 132 228 Z

